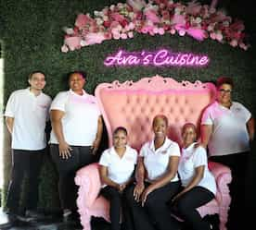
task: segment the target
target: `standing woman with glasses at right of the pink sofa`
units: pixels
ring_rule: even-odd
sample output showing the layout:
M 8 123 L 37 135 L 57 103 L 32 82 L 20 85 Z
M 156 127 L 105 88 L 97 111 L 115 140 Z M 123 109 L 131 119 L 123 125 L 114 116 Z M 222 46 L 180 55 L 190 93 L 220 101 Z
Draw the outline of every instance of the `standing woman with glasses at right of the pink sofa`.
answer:
M 232 201 L 227 225 L 241 229 L 246 222 L 240 211 L 245 209 L 245 178 L 250 142 L 254 139 L 254 119 L 245 106 L 232 101 L 232 79 L 217 79 L 216 88 L 216 102 L 202 115 L 201 144 L 208 147 L 211 161 L 224 163 L 231 169 Z M 238 221 L 237 216 L 240 217 Z

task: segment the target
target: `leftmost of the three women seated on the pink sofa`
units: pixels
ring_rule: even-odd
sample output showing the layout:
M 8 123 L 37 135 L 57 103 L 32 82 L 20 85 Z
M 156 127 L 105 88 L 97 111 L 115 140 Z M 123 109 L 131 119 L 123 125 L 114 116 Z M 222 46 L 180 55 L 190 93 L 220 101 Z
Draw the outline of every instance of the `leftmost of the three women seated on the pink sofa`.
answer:
M 110 201 L 111 230 L 121 229 L 121 210 L 125 229 L 133 228 L 123 192 L 134 181 L 136 162 L 137 151 L 127 145 L 127 130 L 117 127 L 113 132 L 113 147 L 103 151 L 99 160 L 100 177 L 105 186 L 101 194 Z

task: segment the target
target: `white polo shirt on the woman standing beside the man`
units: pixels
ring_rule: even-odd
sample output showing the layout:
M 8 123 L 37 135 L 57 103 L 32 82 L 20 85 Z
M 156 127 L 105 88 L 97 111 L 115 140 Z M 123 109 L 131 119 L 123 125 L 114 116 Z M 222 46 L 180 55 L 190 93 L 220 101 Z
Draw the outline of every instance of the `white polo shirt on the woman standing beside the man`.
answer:
M 73 91 L 62 91 L 53 100 L 50 110 L 65 113 L 61 119 L 64 139 L 74 146 L 91 146 L 96 139 L 97 121 L 100 115 L 96 97 L 83 91 L 78 95 Z M 51 131 L 50 143 L 58 144 Z

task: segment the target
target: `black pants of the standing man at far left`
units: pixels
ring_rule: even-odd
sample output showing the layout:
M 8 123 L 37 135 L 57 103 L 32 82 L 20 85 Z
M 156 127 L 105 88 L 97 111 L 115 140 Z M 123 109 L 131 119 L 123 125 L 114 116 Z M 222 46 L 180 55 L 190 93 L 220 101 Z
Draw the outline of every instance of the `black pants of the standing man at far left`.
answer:
M 19 213 L 21 186 L 24 176 L 28 176 L 28 193 L 25 200 L 26 210 L 35 210 L 38 201 L 39 175 L 45 150 L 12 150 L 12 173 L 8 187 L 6 206 L 9 212 Z

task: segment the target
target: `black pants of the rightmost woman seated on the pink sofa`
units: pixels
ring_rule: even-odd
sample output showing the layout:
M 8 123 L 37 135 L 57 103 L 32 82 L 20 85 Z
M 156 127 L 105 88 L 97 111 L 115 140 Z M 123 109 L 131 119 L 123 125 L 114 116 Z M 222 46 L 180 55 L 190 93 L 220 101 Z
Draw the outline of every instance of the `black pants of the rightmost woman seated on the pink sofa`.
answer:
M 197 208 L 208 203 L 214 194 L 202 187 L 187 191 L 173 203 L 173 209 L 193 230 L 211 230 L 210 224 L 203 221 Z

